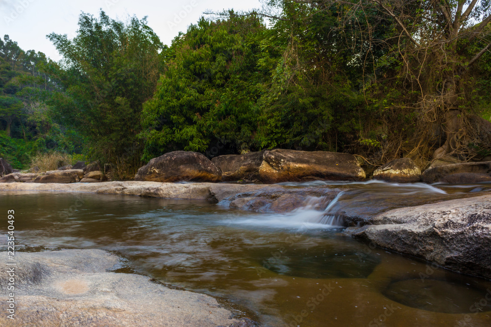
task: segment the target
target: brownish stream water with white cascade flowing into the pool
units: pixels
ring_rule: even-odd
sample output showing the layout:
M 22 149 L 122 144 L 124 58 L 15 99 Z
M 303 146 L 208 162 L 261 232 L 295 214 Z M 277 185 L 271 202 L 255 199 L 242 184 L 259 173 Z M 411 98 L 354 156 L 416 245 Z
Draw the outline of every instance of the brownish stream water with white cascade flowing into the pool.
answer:
M 114 251 L 125 258 L 118 272 L 225 298 L 262 326 L 491 326 L 490 281 L 342 233 L 348 214 L 486 194 L 491 184 L 307 184 L 342 192 L 289 214 L 205 201 L 2 192 L 0 212 L 16 211 L 19 251 Z

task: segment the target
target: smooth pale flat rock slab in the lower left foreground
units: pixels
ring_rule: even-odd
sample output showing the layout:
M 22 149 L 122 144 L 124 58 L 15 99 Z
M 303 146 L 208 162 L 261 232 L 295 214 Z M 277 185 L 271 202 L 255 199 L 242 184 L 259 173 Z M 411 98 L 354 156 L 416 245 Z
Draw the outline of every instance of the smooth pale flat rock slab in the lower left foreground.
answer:
M 6 257 L 6 252 L 1 252 Z M 16 253 L 15 320 L 0 326 L 230 326 L 240 324 L 216 299 L 108 273 L 118 257 L 102 250 Z M 6 268 L 0 269 L 0 310 L 7 312 Z

